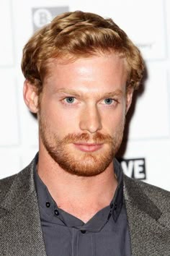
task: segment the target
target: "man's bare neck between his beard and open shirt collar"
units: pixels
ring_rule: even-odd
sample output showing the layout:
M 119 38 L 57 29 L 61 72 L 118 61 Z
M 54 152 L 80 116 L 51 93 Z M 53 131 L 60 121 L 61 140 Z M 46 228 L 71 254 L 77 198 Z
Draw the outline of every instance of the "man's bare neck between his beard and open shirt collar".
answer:
M 40 150 L 37 172 L 58 208 L 85 221 L 109 205 L 117 187 L 113 163 L 97 176 L 76 176 L 64 171 L 47 152 Z M 84 208 L 89 216 L 82 216 Z

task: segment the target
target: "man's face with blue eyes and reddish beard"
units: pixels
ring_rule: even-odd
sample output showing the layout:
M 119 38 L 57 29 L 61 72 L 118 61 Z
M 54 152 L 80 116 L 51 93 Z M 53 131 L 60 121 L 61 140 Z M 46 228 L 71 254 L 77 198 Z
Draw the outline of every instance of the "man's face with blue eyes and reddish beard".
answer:
M 63 170 L 94 176 L 112 166 L 132 96 L 124 61 L 102 54 L 51 64 L 38 113 L 40 150 Z

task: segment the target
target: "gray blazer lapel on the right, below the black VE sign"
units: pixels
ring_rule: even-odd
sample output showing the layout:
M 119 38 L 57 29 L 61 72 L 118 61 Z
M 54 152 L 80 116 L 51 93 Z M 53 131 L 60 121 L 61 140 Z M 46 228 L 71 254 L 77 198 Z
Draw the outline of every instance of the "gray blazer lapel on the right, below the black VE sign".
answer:
M 163 214 L 144 191 L 133 179 L 124 176 L 132 255 L 170 255 L 170 227 L 165 225 L 170 214 Z

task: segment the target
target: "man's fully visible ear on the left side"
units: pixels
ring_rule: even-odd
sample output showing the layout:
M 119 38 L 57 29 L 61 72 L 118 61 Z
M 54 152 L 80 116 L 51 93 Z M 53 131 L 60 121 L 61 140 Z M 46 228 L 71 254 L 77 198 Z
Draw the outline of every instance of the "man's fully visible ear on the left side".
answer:
M 38 95 L 35 85 L 32 85 L 28 80 L 24 81 L 23 88 L 24 102 L 32 113 L 38 111 Z

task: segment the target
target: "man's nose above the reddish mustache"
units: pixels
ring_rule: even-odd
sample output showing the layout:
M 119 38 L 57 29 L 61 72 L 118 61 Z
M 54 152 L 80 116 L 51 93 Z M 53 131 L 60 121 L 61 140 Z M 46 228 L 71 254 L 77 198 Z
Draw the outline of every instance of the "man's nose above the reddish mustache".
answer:
M 97 106 L 88 106 L 81 112 L 80 123 L 81 130 L 95 133 L 102 129 L 102 120 Z

